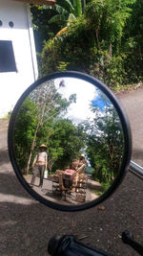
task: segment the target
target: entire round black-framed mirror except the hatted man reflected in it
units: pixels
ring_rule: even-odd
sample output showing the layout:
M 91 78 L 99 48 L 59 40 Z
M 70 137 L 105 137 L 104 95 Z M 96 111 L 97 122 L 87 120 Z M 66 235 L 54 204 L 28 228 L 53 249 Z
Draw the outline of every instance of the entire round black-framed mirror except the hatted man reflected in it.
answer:
M 36 159 L 32 168 L 41 144 L 49 171 L 42 188 L 45 163 Z M 8 145 L 15 174 L 33 198 L 75 211 L 110 197 L 128 170 L 132 142 L 128 118 L 112 91 L 89 75 L 67 71 L 35 81 L 24 92 L 10 116 Z

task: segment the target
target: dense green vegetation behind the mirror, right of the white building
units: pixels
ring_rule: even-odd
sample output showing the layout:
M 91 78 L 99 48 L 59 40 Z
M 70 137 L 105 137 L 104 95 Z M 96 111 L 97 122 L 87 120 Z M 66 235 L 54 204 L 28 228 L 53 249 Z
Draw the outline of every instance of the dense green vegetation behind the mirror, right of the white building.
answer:
M 57 0 L 31 14 L 40 76 L 78 70 L 113 90 L 143 81 L 142 0 Z

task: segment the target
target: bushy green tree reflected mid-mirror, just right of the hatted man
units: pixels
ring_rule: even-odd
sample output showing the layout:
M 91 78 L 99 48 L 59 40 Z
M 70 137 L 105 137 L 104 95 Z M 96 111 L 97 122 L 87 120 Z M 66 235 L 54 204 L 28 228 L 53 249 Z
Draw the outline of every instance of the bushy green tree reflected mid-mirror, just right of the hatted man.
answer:
M 51 137 L 47 141 L 49 148 L 49 167 L 52 171 L 70 166 L 84 147 L 84 134 L 72 125 L 72 121 L 59 119 L 53 124 Z

